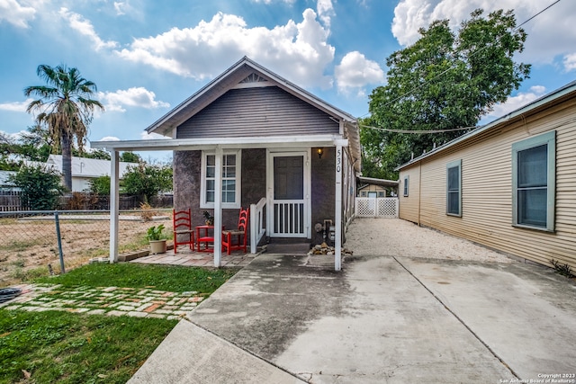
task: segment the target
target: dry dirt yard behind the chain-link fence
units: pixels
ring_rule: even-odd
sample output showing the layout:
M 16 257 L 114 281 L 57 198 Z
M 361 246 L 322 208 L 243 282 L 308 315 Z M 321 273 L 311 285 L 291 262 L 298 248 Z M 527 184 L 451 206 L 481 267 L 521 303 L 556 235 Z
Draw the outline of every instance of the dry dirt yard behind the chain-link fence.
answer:
M 146 230 L 164 224 L 172 231 L 172 219 L 157 221 L 120 220 L 119 250 L 148 248 Z M 74 268 L 92 257 L 108 257 L 108 219 L 62 219 L 60 238 L 65 267 Z M 58 237 L 54 219 L 0 219 L 0 287 L 48 273 L 48 264 L 59 272 Z

